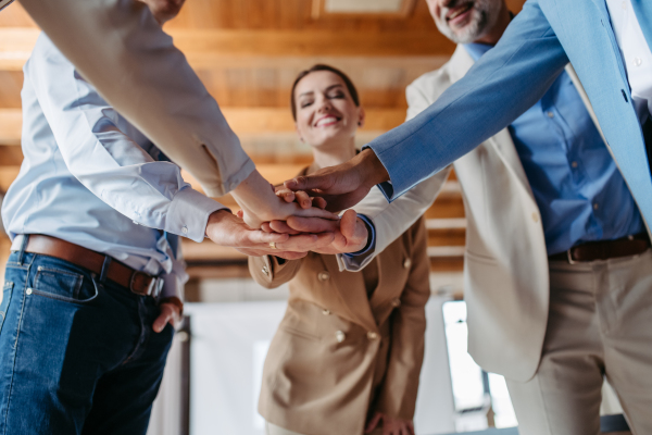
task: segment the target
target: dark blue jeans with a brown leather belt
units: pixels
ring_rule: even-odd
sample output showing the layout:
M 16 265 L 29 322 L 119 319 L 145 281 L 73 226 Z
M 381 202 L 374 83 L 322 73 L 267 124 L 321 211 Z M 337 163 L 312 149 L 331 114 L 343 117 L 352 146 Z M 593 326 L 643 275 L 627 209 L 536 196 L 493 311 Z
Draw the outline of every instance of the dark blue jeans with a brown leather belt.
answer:
M 2 293 L 0 435 L 147 432 L 174 334 L 151 298 L 25 252 Z

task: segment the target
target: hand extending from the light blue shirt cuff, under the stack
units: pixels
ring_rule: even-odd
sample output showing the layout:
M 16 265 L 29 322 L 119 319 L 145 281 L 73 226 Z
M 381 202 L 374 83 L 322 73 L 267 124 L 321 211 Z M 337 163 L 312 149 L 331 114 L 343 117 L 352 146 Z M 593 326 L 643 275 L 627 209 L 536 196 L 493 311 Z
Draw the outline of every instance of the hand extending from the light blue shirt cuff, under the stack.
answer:
M 329 245 L 335 237 L 333 233 L 265 233 L 251 228 L 227 210 L 218 210 L 209 216 L 206 236 L 220 246 L 236 248 L 247 256 L 276 256 L 287 260 L 305 257 L 308 251 Z M 276 249 L 271 247 L 271 243 L 276 244 Z

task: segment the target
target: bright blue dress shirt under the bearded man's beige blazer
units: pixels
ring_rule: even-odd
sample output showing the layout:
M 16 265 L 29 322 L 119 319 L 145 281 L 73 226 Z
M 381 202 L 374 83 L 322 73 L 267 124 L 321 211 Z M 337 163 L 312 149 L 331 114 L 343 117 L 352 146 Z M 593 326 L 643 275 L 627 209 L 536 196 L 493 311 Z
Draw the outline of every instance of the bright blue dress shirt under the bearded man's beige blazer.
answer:
M 492 48 L 464 47 L 476 61 Z M 644 231 L 634 198 L 565 71 L 509 130 L 541 212 L 549 254 Z

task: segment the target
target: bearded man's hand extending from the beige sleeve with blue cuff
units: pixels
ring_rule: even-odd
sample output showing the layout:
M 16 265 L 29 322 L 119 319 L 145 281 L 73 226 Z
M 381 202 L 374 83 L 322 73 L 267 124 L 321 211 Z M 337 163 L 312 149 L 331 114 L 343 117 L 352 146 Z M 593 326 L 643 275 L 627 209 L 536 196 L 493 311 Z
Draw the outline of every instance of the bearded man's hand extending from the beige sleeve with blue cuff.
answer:
M 317 253 L 356 252 L 366 246 L 369 237 L 367 226 L 353 210 L 347 210 L 339 222 L 318 217 L 290 216 L 287 222 L 265 223 L 262 229 L 283 234 L 334 233 L 335 237 L 330 245 L 312 249 Z

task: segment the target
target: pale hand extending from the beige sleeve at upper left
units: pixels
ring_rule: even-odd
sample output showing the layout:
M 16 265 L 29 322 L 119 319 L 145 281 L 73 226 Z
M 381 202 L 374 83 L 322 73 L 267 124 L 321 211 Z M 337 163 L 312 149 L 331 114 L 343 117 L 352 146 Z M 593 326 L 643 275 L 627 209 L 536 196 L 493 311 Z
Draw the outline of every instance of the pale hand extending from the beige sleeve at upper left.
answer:
M 291 215 L 339 220 L 336 214 L 317 207 L 304 209 L 296 202 L 286 202 L 278 198 L 258 171 L 253 171 L 231 195 L 242 208 L 244 222 L 252 228 L 260 228 L 263 222 L 285 221 Z

